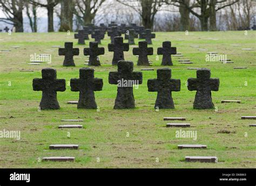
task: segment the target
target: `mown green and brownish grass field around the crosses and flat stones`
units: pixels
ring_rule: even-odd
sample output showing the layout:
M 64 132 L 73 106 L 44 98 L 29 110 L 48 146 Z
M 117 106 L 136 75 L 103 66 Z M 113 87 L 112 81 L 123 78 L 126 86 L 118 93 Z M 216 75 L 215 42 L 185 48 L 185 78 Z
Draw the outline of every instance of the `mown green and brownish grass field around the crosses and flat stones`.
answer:
M 157 48 L 165 40 L 172 41 L 183 58 L 172 57 L 174 66 L 172 78 L 181 80 L 181 91 L 172 92 L 176 109 L 154 110 L 157 92 L 147 91 L 147 80 L 156 78 L 156 70 L 143 71 L 143 84 L 134 89 L 136 109 L 113 110 L 117 85 L 108 83 L 109 71 L 116 71 L 111 65 L 112 52 L 108 52 L 109 37 L 102 46 L 105 55 L 100 56 L 102 66 L 95 69 L 95 77 L 103 78 L 103 91 L 95 92 L 96 110 L 77 109 L 67 104 L 76 101 L 79 92 L 72 92 L 68 82 L 79 77 L 79 68 L 86 67 L 83 48 L 77 45 L 73 33 L 0 33 L 0 130 L 21 131 L 21 140 L 0 138 L 1 168 L 256 168 L 256 128 L 249 127 L 255 120 L 241 120 L 241 116 L 256 116 L 256 50 L 242 51 L 241 48 L 256 49 L 255 31 L 235 32 L 157 32 L 153 39 L 154 55 L 149 56 L 152 68 L 160 66 L 162 56 L 157 60 Z M 64 56 L 58 56 L 58 49 L 52 45 L 64 46 L 65 41 L 73 41 L 80 48 L 80 55 L 74 56 L 76 67 L 63 67 Z M 90 40 L 92 41 L 92 40 Z M 127 42 L 127 41 L 125 41 Z M 138 39 L 136 39 L 138 44 Z M 232 44 L 241 46 L 234 47 Z M 199 52 L 190 45 L 199 45 L 209 51 Z M 14 49 L 11 46 L 20 46 Z M 138 45 L 137 45 L 138 46 Z M 134 62 L 134 71 L 140 71 L 137 57 L 130 51 L 125 59 Z M 45 54 L 46 49 L 55 49 L 52 62 L 39 66 L 29 66 L 30 55 Z M 227 54 L 234 61 L 231 64 L 206 62 L 207 52 Z M 180 64 L 179 59 L 190 59 L 193 64 Z M 41 77 L 42 68 L 57 69 L 57 78 L 66 79 L 66 91 L 58 92 L 60 110 L 38 111 L 42 92 L 32 90 L 32 80 Z M 196 70 L 187 67 L 211 69 L 212 77 L 220 78 L 220 88 L 212 92 L 213 103 L 218 111 L 194 110 L 196 91 L 188 91 L 186 80 L 196 77 Z M 233 69 L 247 67 L 247 69 Z M 22 72 L 21 69 L 34 69 Z M 247 83 L 247 85 L 246 85 Z M 9 86 L 10 85 L 10 86 Z M 238 103 L 220 103 L 222 99 L 241 100 Z M 197 131 L 197 140 L 176 138 L 180 128 L 166 128 L 163 117 L 186 117 L 191 128 Z M 60 130 L 61 119 L 84 119 L 83 129 Z M 182 121 L 174 121 L 179 123 Z M 184 122 L 184 121 L 183 121 Z M 71 124 L 71 123 L 66 123 Z M 230 133 L 221 133 L 226 130 Z M 70 138 L 67 137 L 70 132 Z M 127 137 L 127 132 L 129 137 Z M 245 135 L 247 134 L 247 135 Z M 79 150 L 49 150 L 51 144 L 78 144 Z M 177 149 L 180 144 L 203 144 L 207 149 Z M 39 162 L 45 156 L 75 156 L 76 162 Z M 187 155 L 217 156 L 218 163 L 188 163 Z M 99 158 L 99 159 L 97 159 Z M 99 162 L 97 161 L 99 160 Z M 157 161 L 159 160 L 159 161 Z

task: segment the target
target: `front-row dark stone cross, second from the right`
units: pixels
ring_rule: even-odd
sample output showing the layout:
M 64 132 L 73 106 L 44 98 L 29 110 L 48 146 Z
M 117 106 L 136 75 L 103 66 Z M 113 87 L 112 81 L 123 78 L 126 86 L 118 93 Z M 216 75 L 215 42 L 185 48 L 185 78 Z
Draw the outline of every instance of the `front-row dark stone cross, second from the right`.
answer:
M 157 79 L 147 80 L 150 92 L 157 92 L 155 109 L 174 109 L 172 91 L 180 91 L 180 80 L 171 78 L 170 68 L 157 69 Z

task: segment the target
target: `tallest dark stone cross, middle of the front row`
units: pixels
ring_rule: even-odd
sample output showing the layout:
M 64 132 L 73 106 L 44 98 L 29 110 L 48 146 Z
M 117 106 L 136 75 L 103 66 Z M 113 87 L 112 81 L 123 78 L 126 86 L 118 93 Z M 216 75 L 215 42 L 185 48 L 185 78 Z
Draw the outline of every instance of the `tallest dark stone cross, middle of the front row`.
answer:
M 118 84 L 114 109 L 135 108 L 133 84 L 142 84 L 142 72 L 133 72 L 132 61 L 118 61 L 117 71 L 109 73 L 109 83 Z

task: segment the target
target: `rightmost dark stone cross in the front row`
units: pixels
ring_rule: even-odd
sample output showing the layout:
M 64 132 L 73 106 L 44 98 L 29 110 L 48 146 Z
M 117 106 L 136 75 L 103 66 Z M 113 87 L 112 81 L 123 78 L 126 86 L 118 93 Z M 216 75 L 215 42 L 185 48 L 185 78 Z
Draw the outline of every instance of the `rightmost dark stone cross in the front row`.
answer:
M 196 98 L 194 99 L 194 109 L 213 109 L 211 91 L 219 90 L 219 78 L 210 78 L 211 70 L 201 68 L 197 70 L 197 78 L 188 78 L 188 90 L 197 90 Z

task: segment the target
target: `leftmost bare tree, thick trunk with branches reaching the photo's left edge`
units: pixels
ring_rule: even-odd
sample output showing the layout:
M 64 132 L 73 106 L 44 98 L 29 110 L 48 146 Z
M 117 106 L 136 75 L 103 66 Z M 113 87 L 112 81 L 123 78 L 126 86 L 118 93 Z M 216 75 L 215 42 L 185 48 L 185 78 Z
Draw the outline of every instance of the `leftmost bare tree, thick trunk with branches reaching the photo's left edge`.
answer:
M 23 0 L 0 0 L 0 9 L 6 18 L 0 18 L 1 22 L 14 25 L 16 32 L 23 32 Z

